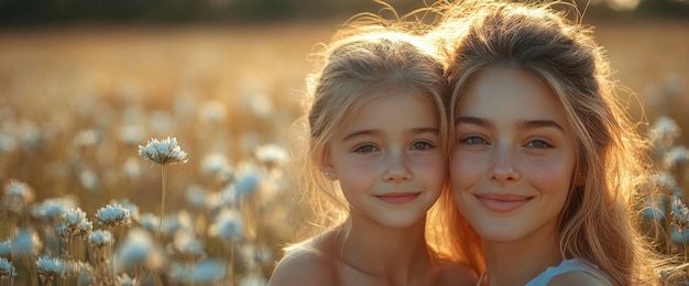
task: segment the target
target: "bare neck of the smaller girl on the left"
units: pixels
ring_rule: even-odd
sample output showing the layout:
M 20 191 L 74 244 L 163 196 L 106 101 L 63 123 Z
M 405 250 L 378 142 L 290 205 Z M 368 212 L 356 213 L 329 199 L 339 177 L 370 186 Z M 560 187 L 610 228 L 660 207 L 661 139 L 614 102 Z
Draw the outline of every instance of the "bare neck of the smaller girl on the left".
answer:
M 427 270 L 430 263 L 425 226 L 425 219 L 406 228 L 387 228 L 352 218 L 349 235 L 341 244 L 342 262 L 368 275 L 409 280 L 413 272 Z

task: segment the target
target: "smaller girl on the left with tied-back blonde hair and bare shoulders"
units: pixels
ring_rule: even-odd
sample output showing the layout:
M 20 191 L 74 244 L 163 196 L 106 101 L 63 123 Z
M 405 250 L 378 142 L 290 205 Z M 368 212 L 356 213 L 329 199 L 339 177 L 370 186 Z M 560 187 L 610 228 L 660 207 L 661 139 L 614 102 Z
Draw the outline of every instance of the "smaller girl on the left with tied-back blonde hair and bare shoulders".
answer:
M 477 258 L 426 239 L 447 185 L 449 90 L 436 48 L 402 30 L 352 24 L 310 77 L 307 187 L 335 227 L 289 248 L 270 285 L 475 284 Z

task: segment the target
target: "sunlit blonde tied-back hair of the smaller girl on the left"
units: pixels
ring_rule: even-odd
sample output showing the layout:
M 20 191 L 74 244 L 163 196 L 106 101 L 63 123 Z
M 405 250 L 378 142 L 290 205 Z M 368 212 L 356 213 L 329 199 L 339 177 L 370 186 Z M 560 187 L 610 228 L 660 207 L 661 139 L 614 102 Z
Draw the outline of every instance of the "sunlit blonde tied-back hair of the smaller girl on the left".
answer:
M 302 187 L 315 218 L 313 222 L 321 231 L 348 233 L 347 201 L 337 184 L 322 174 L 319 162 L 327 158 L 335 131 L 378 94 L 371 91 L 413 91 L 433 102 L 439 122 L 441 148 L 447 154 L 449 87 L 444 77 L 445 61 L 437 48 L 419 35 L 424 26 L 420 22 L 404 21 L 403 18 L 386 21 L 365 14 L 350 20 L 331 43 L 316 54 L 320 66 L 307 77 L 306 114 L 302 119 L 308 132 Z M 448 191 L 447 187 L 444 191 Z M 431 217 L 429 215 L 427 221 L 433 221 Z M 428 229 L 430 232 L 436 230 Z M 430 246 L 440 256 L 450 256 L 444 255 L 449 252 L 433 244 Z

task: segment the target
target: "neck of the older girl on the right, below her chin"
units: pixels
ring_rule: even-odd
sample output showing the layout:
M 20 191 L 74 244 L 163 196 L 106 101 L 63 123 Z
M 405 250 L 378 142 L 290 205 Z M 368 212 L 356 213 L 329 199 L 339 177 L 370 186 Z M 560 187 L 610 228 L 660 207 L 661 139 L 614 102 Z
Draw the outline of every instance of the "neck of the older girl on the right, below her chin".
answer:
M 562 261 L 555 233 L 512 242 L 486 241 L 485 267 L 489 285 L 525 285 L 549 266 Z

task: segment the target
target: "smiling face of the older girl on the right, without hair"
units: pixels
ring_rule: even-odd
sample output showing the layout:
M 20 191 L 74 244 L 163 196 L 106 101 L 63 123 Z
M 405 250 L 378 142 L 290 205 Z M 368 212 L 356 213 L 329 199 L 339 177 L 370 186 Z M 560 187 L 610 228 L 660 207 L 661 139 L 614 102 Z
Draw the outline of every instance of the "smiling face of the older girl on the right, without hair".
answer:
M 459 210 L 486 242 L 556 239 L 576 160 L 556 95 L 526 70 L 493 67 L 457 108 L 450 179 Z

